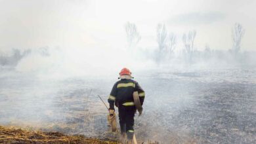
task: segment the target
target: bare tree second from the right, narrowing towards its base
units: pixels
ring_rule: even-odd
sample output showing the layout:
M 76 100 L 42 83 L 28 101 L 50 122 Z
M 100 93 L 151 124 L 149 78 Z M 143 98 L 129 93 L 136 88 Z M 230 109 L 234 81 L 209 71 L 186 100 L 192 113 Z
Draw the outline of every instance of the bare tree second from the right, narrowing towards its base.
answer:
M 196 37 L 196 31 L 189 31 L 188 34 L 184 33 L 182 40 L 185 47 L 185 51 L 188 54 L 189 61 L 192 60 L 192 54 L 194 52 L 194 40 Z

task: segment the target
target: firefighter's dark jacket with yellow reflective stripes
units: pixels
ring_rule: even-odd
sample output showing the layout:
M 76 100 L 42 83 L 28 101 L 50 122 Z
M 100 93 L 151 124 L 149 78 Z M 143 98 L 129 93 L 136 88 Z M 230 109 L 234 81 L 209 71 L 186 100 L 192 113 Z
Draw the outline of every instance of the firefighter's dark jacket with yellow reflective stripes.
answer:
M 133 92 L 139 93 L 140 103 L 143 104 L 145 92 L 142 90 L 137 81 L 132 79 L 121 79 L 117 81 L 108 97 L 108 103 L 110 103 L 110 109 L 114 109 L 114 103 L 116 107 L 119 105 L 131 106 L 133 103 Z

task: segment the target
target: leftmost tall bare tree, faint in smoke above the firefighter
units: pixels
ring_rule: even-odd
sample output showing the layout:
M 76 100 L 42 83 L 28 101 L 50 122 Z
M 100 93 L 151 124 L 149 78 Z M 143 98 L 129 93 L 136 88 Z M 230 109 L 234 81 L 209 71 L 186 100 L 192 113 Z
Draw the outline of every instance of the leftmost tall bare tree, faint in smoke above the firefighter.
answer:
M 140 34 L 137 31 L 137 26 L 135 24 L 127 22 L 125 24 L 125 31 L 126 31 L 127 43 L 129 45 L 129 48 L 133 48 L 139 43 L 141 39 Z

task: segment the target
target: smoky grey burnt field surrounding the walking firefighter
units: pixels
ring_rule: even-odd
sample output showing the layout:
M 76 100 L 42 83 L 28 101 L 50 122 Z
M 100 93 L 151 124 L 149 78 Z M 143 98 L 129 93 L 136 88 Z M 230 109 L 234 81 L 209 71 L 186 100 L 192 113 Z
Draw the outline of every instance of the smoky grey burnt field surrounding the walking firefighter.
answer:
M 146 91 L 135 117 L 139 141 L 256 143 L 256 70 L 154 71 L 137 74 Z M 114 140 L 106 107 L 116 77 L 39 79 L 1 72 L 0 125 Z

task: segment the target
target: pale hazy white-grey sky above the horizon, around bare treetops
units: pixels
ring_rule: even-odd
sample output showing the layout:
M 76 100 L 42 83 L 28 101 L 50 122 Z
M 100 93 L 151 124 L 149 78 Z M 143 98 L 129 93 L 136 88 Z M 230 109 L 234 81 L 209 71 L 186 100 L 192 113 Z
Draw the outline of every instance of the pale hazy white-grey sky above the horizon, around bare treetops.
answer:
M 196 47 L 228 50 L 236 22 L 245 29 L 242 48 L 256 49 L 256 1 L 0 0 L 0 50 L 10 48 L 124 48 L 125 22 L 137 24 L 142 48 L 154 48 L 156 26 L 177 33 L 195 29 Z

